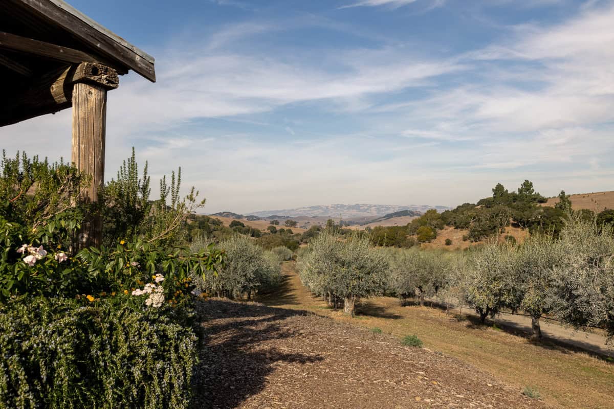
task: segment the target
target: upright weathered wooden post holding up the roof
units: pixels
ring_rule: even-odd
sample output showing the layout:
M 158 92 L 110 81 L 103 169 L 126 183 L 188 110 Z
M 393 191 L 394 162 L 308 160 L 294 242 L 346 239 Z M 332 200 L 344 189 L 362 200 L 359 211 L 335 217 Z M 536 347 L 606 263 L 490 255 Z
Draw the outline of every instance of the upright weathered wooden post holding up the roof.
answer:
M 77 71 L 80 71 L 80 67 Z M 99 69 L 95 68 L 94 74 L 98 74 Z M 79 248 L 99 247 L 102 244 L 103 223 L 95 204 L 104 187 L 107 90 L 112 88 L 117 88 L 117 83 L 109 86 L 93 80 L 91 76 L 77 79 L 72 86 L 72 162 L 80 172 L 92 177 L 82 197 L 86 203 L 92 204 L 92 212 L 87 215 L 85 226 L 82 226 L 79 234 Z

